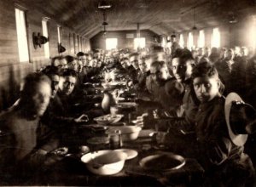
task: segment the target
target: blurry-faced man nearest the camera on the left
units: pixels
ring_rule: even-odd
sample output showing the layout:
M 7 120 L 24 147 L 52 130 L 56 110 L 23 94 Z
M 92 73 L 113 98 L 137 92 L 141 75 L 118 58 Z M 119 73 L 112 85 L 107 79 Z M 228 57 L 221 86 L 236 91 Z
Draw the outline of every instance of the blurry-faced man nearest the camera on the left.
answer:
M 57 143 L 51 147 L 48 142 L 38 141 L 38 122 L 47 109 L 50 95 L 49 78 L 30 74 L 25 79 L 20 102 L 0 116 L 1 182 L 9 180 L 15 184 L 21 178 L 26 180 L 49 163 L 46 155 Z

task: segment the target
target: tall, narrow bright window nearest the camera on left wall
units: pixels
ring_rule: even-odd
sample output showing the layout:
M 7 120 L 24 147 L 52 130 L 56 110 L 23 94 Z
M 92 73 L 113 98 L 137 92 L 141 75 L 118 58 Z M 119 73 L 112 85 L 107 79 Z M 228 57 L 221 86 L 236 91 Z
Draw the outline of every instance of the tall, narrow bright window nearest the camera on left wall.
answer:
M 26 36 L 26 20 L 25 12 L 19 8 L 15 8 L 15 20 L 16 20 L 16 30 L 18 38 L 18 49 L 20 62 L 28 62 L 28 44 Z

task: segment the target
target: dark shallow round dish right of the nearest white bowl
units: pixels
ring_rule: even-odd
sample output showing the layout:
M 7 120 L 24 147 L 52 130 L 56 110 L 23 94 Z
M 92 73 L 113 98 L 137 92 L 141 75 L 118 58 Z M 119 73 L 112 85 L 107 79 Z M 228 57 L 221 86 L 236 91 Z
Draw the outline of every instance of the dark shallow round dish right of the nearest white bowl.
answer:
M 139 162 L 139 164 L 141 167 L 148 170 L 171 171 L 183 167 L 185 162 L 183 156 L 170 152 L 146 156 Z

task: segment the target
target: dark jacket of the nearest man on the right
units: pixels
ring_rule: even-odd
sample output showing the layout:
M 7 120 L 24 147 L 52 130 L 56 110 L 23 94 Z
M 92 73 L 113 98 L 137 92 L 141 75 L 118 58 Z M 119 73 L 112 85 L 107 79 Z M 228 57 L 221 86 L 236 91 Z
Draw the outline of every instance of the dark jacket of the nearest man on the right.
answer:
M 224 118 L 224 97 L 201 104 L 195 117 L 195 132 L 199 144 L 198 160 L 207 177 L 224 186 L 242 186 L 253 176 L 250 158 L 243 147 L 230 140 Z

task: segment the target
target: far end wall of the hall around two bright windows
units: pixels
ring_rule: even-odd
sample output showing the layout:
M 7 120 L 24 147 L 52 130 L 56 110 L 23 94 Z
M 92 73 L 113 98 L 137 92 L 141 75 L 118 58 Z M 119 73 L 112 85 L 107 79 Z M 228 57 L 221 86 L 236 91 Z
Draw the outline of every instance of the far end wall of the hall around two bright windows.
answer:
M 107 38 L 118 38 L 118 48 L 131 48 L 133 49 L 134 38 L 126 38 L 126 35 L 133 34 L 137 36 L 137 31 L 108 31 Z M 160 40 L 159 36 L 153 31 L 143 30 L 140 31 L 141 37 L 146 38 L 146 47 L 150 48 L 155 43 L 155 38 Z M 95 37 L 90 39 L 91 48 L 102 48 L 106 49 L 105 37 L 102 36 L 102 32 L 98 33 Z

